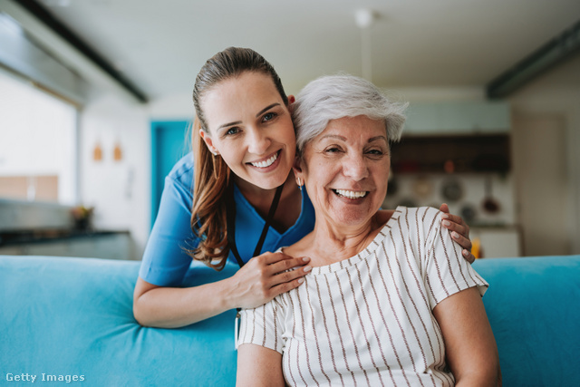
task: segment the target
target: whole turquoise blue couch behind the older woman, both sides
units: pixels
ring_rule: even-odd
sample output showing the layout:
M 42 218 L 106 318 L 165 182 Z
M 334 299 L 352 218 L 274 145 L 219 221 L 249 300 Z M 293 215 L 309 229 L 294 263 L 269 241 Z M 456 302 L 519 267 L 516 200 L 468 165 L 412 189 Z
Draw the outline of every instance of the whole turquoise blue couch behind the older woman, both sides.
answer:
M 0 256 L 0 385 L 227 386 L 234 311 L 181 329 L 132 314 L 139 262 Z M 580 256 L 481 259 L 474 266 L 505 386 L 580 386 Z M 231 276 L 194 267 L 215 281 Z

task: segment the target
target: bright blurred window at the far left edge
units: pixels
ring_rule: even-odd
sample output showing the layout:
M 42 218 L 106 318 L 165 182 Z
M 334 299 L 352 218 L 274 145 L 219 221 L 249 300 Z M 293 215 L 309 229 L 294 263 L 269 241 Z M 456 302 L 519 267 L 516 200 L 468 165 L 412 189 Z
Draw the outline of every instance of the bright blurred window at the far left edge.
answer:
M 77 110 L 0 70 L 0 198 L 74 204 Z

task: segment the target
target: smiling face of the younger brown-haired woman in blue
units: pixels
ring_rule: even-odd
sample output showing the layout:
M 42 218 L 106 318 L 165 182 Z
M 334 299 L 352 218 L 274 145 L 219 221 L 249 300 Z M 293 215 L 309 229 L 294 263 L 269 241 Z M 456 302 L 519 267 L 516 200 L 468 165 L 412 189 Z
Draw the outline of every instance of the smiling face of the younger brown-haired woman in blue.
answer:
M 269 75 L 246 72 L 219 82 L 203 95 L 201 107 L 208 123 L 201 136 L 237 177 L 261 189 L 285 182 L 296 138 L 288 106 Z

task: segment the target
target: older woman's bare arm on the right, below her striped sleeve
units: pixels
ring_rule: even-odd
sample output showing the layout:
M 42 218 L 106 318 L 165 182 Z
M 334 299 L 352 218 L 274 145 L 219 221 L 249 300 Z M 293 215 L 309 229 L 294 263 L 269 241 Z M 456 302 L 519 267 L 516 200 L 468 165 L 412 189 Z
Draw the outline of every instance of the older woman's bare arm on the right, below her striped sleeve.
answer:
M 450 295 L 433 309 L 457 386 L 501 385 L 498 346 L 477 287 Z

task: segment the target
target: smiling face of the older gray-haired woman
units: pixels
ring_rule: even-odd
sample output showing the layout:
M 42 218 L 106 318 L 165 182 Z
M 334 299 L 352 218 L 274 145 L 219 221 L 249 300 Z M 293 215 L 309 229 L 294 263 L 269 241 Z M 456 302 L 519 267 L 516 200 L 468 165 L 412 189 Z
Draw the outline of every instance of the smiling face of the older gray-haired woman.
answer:
M 391 156 L 384 123 L 366 116 L 330 121 L 305 145 L 298 165 L 316 222 L 323 217 L 333 227 L 364 225 L 387 193 Z

